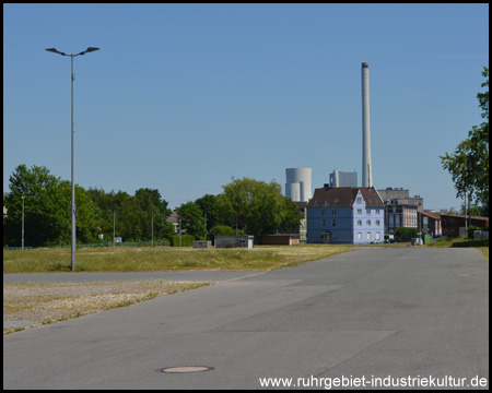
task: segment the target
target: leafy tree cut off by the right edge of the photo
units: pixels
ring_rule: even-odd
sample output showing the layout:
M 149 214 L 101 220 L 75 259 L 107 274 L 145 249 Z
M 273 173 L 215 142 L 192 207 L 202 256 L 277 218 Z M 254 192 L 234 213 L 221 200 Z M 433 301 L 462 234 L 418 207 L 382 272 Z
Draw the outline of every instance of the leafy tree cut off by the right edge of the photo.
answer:
M 489 87 L 489 69 L 484 67 L 482 75 L 487 81 L 482 87 Z M 440 156 L 443 168 L 452 175 L 456 196 L 468 196 L 487 206 L 489 211 L 489 91 L 478 93 L 482 118 L 487 121 L 473 126 L 468 138 L 458 144 L 453 155 Z

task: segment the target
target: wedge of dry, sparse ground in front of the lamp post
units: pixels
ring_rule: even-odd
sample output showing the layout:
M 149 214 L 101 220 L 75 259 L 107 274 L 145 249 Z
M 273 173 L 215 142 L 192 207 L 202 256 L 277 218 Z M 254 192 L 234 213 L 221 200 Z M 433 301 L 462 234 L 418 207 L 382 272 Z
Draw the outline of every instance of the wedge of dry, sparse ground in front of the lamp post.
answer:
M 3 284 L 3 334 L 197 288 L 209 283 Z

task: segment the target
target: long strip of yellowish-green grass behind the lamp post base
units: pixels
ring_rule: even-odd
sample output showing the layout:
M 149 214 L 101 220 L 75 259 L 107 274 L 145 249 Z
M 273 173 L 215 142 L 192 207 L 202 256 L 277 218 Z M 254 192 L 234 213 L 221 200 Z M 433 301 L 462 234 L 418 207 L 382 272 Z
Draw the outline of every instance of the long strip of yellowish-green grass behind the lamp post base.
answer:
M 77 272 L 272 270 L 353 250 L 333 245 L 256 246 L 253 249 L 174 247 L 78 249 Z M 3 250 L 3 273 L 70 271 L 70 249 Z

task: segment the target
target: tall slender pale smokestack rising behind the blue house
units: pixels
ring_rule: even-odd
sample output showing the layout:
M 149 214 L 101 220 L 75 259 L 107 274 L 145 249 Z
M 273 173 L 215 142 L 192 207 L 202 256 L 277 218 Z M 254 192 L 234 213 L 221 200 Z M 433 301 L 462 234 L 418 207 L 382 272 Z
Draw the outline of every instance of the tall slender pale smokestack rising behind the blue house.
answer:
M 373 186 L 368 106 L 368 64 L 362 63 L 362 187 Z

